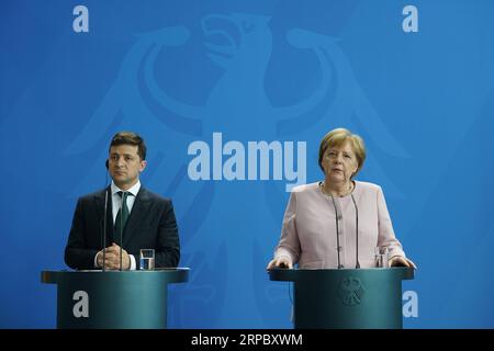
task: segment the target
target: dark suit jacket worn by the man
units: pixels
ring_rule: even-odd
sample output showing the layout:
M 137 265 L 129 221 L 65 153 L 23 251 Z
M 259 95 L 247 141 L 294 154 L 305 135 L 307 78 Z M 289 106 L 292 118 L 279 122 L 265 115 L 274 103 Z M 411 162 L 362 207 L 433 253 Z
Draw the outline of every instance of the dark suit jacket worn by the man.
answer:
M 114 233 L 110 186 L 80 197 L 65 248 L 65 262 L 72 269 L 94 269 L 94 257 L 103 248 L 105 191 L 105 246 L 109 247 L 112 242 L 121 244 L 120 234 Z M 155 249 L 157 268 L 177 267 L 180 260 L 180 242 L 171 201 L 141 186 L 125 225 L 122 242 L 122 248 L 135 257 L 137 265 L 141 249 Z

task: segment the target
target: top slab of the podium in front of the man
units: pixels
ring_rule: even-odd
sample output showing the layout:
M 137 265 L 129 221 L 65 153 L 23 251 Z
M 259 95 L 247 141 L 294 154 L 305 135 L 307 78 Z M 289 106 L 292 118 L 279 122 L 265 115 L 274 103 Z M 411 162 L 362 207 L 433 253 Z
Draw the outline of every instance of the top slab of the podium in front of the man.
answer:
M 42 283 L 58 284 L 61 281 L 70 279 L 80 280 L 158 280 L 162 283 L 182 283 L 189 280 L 189 268 L 164 268 L 153 271 L 102 271 L 102 270 L 82 270 L 82 271 L 42 271 Z

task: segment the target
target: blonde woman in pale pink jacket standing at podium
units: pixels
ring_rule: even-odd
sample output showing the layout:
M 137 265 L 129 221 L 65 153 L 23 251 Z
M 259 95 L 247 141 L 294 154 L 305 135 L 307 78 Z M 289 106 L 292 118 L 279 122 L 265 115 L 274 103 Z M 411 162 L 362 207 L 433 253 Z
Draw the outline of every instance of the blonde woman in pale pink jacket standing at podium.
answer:
M 293 189 L 268 269 L 371 268 L 377 248 L 388 249 L 390 267 L 416 268 L 394 235 L 381 186 L 353 180 L 364 159 L 360 136 L 344 128 L 326 134 L 324 181 Z

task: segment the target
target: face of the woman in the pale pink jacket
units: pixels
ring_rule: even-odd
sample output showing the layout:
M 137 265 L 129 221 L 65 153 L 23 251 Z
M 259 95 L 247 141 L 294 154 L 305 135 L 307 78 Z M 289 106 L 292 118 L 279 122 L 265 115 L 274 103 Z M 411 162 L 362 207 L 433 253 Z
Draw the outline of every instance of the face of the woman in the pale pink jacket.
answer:
M 339 147 L 328 147 L 323 157 L 326 179 L 334 183 L 349 182 L 357 171 L 358 162 L 349 140 Z

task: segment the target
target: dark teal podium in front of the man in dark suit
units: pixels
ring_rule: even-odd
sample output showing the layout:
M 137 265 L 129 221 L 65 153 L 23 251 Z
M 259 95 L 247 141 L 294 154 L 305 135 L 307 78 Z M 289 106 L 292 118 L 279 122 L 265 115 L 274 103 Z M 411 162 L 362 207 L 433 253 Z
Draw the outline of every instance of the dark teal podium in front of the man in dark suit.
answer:
M 43 271 L 57 284 L 57 328 L 165 329 L 167 284 L 189 279 L 189 269 L 154 271 Z

